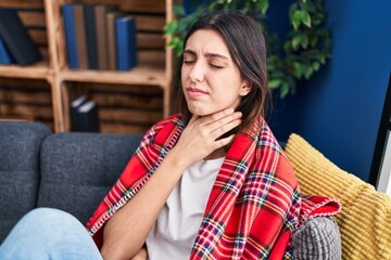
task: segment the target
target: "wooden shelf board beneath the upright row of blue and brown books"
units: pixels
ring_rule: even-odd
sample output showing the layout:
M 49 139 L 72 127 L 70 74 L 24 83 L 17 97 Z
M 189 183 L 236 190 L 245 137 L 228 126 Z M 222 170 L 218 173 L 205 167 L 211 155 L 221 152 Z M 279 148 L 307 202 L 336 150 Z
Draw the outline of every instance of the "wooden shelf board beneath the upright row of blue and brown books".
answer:
M 164 66 L 152 64 L 141 64 L 129 72 L 67 69 L 60 74 L 64 81 L 156 84 L 161 87 L 167 84 Z

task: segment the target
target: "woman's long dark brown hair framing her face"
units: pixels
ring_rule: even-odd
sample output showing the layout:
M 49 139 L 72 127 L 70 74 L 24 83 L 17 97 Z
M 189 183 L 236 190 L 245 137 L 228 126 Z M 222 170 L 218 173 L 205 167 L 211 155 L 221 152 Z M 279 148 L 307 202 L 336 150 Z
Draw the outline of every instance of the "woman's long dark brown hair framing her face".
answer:
M 251 91 L 242 98 L 237 110 L 242 112 L 241 129 L 265 114 L 265 101 L 269 95 L 267 88 L 266 44 L 260 25 L 251 17 L 231 11 L 206 13 L 190 27 L 189 37 L 200 29 L 215 30 L 224 38 L 230 55 L 240 70 L 242 79 L 249 81 Z M 177 108 L 186 121 L 191 118 L 184 91 L 178 90 Z

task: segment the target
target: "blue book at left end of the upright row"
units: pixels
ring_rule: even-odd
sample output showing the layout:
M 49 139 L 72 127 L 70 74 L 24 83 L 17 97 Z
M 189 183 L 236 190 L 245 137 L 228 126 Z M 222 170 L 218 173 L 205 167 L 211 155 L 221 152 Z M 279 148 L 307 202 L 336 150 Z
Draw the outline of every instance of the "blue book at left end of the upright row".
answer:
M 67 3 L 62 5 L 64 28 L 65 28 L 65 42 L 66 42 L 66 56 L 68 66 L 72 69 L 79 68 L 77 57 L 77 42 L 76 42 L 76 27 L 74 16 L 74 4 Z

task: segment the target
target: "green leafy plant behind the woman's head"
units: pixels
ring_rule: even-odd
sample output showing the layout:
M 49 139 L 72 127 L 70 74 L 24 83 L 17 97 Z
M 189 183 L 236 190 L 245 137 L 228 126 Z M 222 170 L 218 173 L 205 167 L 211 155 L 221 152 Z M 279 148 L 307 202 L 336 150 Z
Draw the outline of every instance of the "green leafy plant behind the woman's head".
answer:
M 269 31 L 266 23 L 269 0 L 210 0 L 200 3 L 190 14 L 182 5 L 175 5 L 177 18 L 165 26 L 165 35 L 178 57 L 182 52 L 184 37 L 190 25 L 204 11 L 236 10 L 260 22 L 260 29 L 268 37 L 268 86 L 285 98 L 297 91 L 298 81 L 310 79 L 330 57 L 330 32 L 325 27 L 326 11 L 323 0 L 297 0 L 287 10 L 289 31 L 283 40 Z

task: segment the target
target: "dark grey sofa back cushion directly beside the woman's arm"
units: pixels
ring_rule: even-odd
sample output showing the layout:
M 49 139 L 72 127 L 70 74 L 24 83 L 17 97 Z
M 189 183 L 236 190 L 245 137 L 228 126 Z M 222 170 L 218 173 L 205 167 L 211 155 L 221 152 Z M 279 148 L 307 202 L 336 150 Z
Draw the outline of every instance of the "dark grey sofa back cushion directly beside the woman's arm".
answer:
M 41 150 L 39 207 L 87 223 L 133 156 L 141 135 L 58 133 Z

